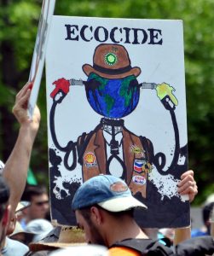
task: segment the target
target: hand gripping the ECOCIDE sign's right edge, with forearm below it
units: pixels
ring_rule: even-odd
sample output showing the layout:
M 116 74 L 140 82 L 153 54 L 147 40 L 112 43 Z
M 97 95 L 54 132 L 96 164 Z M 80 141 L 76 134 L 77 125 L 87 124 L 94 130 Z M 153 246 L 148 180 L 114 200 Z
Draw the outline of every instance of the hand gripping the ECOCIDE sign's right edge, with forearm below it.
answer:
M 188 195 L 189 201 L 194 201 L 194 196 L 198 194 L 198 187 L 194 181 L 194 172 L 192 170 L 184 172 L 178 183 L 178 192 L 180 195 Z M 175 230 L 174 245 L 181 241 L 191 238 L 191 226 Z

